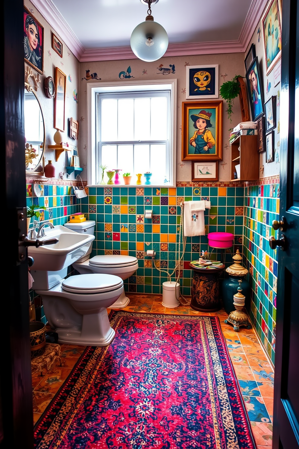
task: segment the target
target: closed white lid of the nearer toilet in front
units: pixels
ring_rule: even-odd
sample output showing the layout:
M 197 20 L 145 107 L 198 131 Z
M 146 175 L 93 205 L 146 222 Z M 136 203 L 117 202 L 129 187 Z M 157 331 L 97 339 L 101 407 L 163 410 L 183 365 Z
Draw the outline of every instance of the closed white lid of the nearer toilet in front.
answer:
M 72 293 L 104 293 L 113 291 L 123 285 L 120 277 L 113 274 L 78 274 L 65 279 L 61 286 L 63 290 Z

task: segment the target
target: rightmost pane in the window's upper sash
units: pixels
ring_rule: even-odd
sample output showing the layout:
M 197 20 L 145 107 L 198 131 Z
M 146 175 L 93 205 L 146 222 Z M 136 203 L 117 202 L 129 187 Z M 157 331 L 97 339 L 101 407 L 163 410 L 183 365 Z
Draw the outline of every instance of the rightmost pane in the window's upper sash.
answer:
M 151 99 L 151 140 L 167 139 L 167 98 Z

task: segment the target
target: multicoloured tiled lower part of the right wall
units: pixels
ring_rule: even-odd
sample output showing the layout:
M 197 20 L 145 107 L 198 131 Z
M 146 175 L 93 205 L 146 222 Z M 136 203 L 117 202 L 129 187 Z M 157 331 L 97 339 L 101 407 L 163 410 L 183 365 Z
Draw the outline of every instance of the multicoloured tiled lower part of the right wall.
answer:
M 275 358 L 277 251 L 269 237 L 277 238 L 272 221 L 279 217 L 279 177 L 245 186 L 244 255 L 250 273 L 252 301 L 250 317 L 264 347 Z

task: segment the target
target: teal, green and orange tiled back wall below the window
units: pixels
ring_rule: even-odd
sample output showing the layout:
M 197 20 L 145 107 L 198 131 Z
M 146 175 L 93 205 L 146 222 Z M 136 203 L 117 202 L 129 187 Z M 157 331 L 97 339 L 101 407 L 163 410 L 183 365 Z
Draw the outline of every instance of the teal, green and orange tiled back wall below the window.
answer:
M 96 221 L 92 255 L 137 257 L 139 269 L 125 281 L 125 290 L 162 293 L 162 284 L 168 280 L 167 274 L 153 267 L 146 251 L 155 250 L 156 265 L 172 273 L 178 249 L 179 204 L 182 200 L 202 199 L 211 201 L 211 209 L 204 212 L 206 235 L 187 238 L 180 269 L 182 294 L 190 295 L 192 273 L 189 262 L 199 258 L 199 251 L 211 251 L 208 248 L 208 232 L 233 233 L 236 245 L 242 244 L 244 187 L 241 183 L 182 182 L 178 183 L 177 188 L 90 187 L 89 197 L 82 199 L 81 210 L 89 213 L 90 220 Z M 152 209 L 152 220 L 144 218 L 146 209 Z M 224 256 L 226 262 L 231 264 L 230 253 Z

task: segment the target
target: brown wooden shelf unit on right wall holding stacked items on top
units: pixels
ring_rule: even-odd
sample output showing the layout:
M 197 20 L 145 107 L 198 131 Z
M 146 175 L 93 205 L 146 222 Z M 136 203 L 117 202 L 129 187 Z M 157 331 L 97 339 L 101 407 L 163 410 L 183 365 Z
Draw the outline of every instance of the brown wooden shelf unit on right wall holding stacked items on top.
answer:
M 259 179 L 260 154 L 257 151 L 257 136 L 238 136 L 230 144 L 230 161 L 230 179 L 232 181 L 254 181 Z M 235 179 L 234 172 L 238 164 L 240 164 L 240 177 Z

